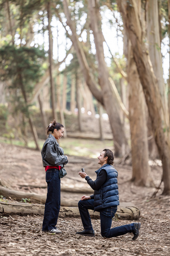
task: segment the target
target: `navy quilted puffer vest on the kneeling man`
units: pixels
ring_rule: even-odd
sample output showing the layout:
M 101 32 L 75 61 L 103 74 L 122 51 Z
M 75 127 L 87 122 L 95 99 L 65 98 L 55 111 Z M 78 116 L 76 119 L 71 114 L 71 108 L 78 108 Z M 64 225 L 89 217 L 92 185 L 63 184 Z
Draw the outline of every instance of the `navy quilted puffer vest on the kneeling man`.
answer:
M 107 180 L 98 190 L 94 191 L 95 211 L 119 205 L 118 172 L 112 165 L 105 164 L 96 171 L 97 176 L 102 169 L 107 172 Z

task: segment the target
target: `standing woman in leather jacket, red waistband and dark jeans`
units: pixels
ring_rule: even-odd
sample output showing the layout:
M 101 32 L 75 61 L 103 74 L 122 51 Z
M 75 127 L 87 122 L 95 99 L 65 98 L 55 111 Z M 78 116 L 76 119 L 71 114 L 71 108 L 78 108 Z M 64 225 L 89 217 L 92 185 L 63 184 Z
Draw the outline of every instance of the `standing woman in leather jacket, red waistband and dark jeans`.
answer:
M 50 134 L 51 132 L 51 134 Z M 53 120 L 46 129 L 48 138 L 42 147 L 42 162 L 46 171 L 47 197 L 45 202 L 42 231 L 49 233 L 62 233 L 55 226 L 60 210 L 60 177 L 59 170 L 68 163 L 68 157 L 64 156 L 63 149 L 59 146 L 59 140 L 64 133 L 62 124 Z

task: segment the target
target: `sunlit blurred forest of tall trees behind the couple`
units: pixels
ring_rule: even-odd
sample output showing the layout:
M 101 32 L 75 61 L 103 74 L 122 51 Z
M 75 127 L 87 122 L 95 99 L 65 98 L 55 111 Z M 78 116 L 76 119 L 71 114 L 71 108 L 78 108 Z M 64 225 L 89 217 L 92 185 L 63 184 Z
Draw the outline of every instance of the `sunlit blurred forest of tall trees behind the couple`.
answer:
M 55 119 L 66 153 L 107 141 L 135 184 L 160 159 L 170 194 L 169 17 L 163 0 L 1 0 L 0 141 L 41 150 Z

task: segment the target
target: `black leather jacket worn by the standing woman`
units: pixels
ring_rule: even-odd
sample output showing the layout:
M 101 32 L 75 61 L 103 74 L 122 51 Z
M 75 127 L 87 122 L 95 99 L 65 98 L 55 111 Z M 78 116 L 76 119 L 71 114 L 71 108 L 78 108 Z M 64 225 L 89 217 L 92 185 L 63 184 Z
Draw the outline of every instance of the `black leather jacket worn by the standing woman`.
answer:
M 68 163 L 68 159 L 64 156 L 63 149 L 59 146 L 57 140 L 51 134 L 44 142 L 41 151 L 43 167 L 48 165 L 60 165 L 64 167 L 64 164 Z

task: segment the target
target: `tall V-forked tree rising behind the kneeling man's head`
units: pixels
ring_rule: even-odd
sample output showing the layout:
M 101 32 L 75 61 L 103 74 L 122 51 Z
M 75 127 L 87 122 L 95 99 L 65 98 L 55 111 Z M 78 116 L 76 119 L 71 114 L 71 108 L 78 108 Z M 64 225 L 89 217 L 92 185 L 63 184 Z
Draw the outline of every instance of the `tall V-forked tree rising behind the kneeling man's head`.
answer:
M 96 14 L 96 11 L 99 12 L 99 9 L 96 5 L 96 2 L 93 1 L 94 3 L 94 18 L 97 18 L 98 15 Z M 103 62 L 103 43 L 102 43 L 102 48 L 101 48 L 101 43 L 100 45 L 97 44 L 96 42 L 96 49 L 98 47 L 98 61 L 100 61 L 100 77 L 99 77 L 99 84 L 101 85 L 101 90 L 98 89 L 96 82 L 92 76 L 92 73 L 90 72 L 89 69 L 89 65 L 84 53 L 84 50 L 78 40 L 78 36 L 76 34 L 76 25 L 75 23 L 73 23 L 72 19 L 71 19 L 71 14 L 69 12 L 68 9 L 68 4 L 67 4 L 67 0 L 63 1 L 63 7 L 64 7 L 64 14 L 67 18 L 67 25 L 70 27 L 71 31 L 72 31 L 72 36 L 70 37 L 72 40 L 72 43 L 74 45 L 74 48 L 76 50 L 76 54 L 77 54 L 77 58 L 78 61 L 80 63 L 81 69 L 82 69 L 82 73 L 84 75 L 84 79 L 87 83 L 87 85 L 89 86 L 89 89 L 91 90 L 92 94 L 94 95 L 94 97 L 101 102 L 108 113 L 109 119 L 110 119 L 110 124 L 112 127 L 112 132 L 113 132 L 113 136 L 114 136 L 114 146 L 115 146 L 115 156 L 122 156 L 125 151 L 126 148 L 128 148 L 128 143 L 125 137 L 125 133 L 124 130 L 122 128 L 122 124 L 120 121 L 120 117 L 117 115 L 117 108 L 116 105 L 114 104 L 114 99 L 113 99 L 113 93 L 112 93 L 112 89 L 111 89 L 111 84 L 109 82 L 109 76 L 108 76 L 108 71 L 107 71 L 107 67 L 106 64 Z M 92 18 L 93 14 L 90 14 L 90 17 Z M 98 38 L 96 31 L 99 31 L 99 27 L 98 27 L 98 22 L 99 20 L 94 20 L 95 22 L 95 29 L 94 27 L 92 27 L 93 29 L 93 34 L 95 33 L 94 37 Z M 93 21 L 91 21 L 91 26 L 93 26 Z M 101 27 L 100 27 L 101 30 Z M 100 32 L 101 35 L 101 32 Z M 100 36 L 101 39 L 101 36 Z M 99 42 L 99 38 L 97 39 Z M 102 40 L 103 42 L 103 40 Z M 101 52 L 100 52 L 101 51 Z M 103 69 L 102 69 L 103 67 Z M 102 76 L 101 73 L 104 72 L 104 75 Z M 105 85 L 105 82 L 106 85 Z M 113 111 L 114 110 L 114 111 Z

